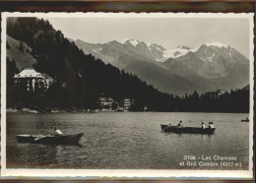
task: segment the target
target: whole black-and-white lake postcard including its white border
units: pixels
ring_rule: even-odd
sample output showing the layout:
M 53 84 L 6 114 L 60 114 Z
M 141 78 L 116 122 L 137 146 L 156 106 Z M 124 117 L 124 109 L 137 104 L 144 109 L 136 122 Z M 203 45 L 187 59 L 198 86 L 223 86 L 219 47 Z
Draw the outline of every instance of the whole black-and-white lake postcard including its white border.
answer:
M 253 14 L 1 26 L 2 174 L 252 177 Z

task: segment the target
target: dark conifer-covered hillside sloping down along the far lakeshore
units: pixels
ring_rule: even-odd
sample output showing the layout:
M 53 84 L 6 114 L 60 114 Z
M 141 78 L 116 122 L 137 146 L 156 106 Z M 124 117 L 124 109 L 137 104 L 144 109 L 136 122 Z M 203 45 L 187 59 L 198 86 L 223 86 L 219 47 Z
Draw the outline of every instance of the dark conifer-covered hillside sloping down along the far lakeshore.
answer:
M 150 111 L 248 112 L 247 90 L 225 92 L 214 98 L 211 93 L 199 95 L 197 91 L 183 97 L 160 92 L 137 76 L 84 54 L 45 20 L 9 18 L 7 34 L 12 40 L 7 42 L 7 107 L 96 109 L 98 97 L 107 96 L 131 98 L 134 111 L 147 106 Z M 20 93 L 13 86 L 13 76 L 25 67 L 27 58 L 37 72 L 55 81 L 44 94 Z

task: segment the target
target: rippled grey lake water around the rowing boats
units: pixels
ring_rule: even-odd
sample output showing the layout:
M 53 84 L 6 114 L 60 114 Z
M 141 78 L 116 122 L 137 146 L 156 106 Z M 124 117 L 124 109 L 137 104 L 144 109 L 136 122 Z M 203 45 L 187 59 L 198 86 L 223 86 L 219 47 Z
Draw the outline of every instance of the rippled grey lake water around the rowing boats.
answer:
M 184 155 L 235 156 L 248 169 L 248 114 L 100 112 L 7 114 L 7 168 L 121 168 L 121 169 L 224 169 L 180 166 Z M 185 126 L 215 122 L 213 135 L 161 133 L 160 124 Z M 19 134 L 49 134 L 54 126 L 64 134 L 84 132 L 81 146 L 17 143 Z M 197 161 L 198 163 L 198 161 Z

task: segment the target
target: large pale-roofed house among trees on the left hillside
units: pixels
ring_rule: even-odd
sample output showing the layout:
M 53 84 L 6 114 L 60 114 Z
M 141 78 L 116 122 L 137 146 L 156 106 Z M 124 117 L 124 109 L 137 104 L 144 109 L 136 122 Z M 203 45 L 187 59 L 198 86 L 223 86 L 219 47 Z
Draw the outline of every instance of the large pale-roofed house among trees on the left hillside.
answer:
M 48 75 L 29 68 L 14 76 L 15 87 L 25 92 L 47 91 L 52 80 Z

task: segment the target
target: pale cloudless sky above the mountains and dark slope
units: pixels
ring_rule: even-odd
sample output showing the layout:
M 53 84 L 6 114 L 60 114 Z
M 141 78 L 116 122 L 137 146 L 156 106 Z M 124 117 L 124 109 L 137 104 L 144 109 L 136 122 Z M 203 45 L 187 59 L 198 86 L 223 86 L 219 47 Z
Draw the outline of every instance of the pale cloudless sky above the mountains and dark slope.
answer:
M 90 43 L 134 38 L 166 49 L 222 42 L 249 57 L 249 20 L 227 18 L 46 18 L 66 37 Z

